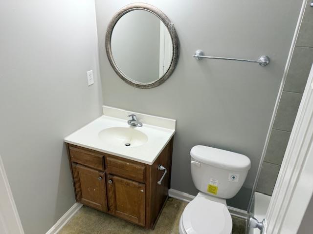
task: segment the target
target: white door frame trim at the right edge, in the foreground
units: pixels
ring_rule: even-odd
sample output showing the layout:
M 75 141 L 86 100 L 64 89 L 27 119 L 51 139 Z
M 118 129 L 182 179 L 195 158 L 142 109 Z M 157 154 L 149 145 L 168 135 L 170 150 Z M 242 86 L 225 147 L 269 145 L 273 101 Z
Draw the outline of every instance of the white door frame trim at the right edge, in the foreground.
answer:
M 266 214 L 268 234 L 295 234 L 313 195 L 313 66 Z

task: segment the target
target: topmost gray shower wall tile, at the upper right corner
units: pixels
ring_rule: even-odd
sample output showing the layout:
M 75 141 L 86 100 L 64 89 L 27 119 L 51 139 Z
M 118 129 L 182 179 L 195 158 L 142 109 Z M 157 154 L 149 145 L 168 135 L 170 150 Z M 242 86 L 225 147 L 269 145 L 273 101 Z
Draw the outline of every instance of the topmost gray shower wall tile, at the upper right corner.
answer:
M 303 20 L 301 23 L 296 45 L 313 47 L 313 8 L 310 7 L 311 0 L 307 1 Z

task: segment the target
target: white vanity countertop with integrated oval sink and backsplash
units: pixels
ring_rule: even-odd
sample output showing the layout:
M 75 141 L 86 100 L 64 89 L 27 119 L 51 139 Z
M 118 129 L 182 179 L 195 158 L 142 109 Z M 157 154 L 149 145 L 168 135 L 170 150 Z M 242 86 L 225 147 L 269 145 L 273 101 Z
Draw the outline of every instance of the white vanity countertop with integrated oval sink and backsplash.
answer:
M 109 155 L 152 165 L 175 133 L 175 119 L 103 106 L 105 115 L 65 137 L 64 141 Z M 127 124 L 130 114 L 142 127 Z M 129 143 L 129 146 L 125 144 Z

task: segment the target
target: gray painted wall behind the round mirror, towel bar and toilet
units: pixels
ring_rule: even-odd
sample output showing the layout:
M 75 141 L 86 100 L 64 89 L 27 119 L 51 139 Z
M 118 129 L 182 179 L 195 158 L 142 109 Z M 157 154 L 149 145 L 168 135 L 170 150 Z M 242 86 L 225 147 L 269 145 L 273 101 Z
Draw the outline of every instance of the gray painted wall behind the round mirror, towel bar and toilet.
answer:
M 190 175 L 190 149 L 204 144 L 238 152 L 251 159 L 244 186 L 249 193 L 260 163 L 278 89 L 301 8 L 301 0 L 232 1 L 145 0 L 175 24 L 179 62 L 173 75 L 153 89 L 127 85 L 106 57 L 104 38 L 114 13 L 132 0 L 96 0 L 103 103 L 151 115 L 177 119 L 173 155 L 173 189 L 196 195 Z M 208 60 L 192 55 L 257 59 L 271 63 Z M 245 191 L 243 189 L 242 191 Z M 246 209 L 249 195 L 228 204 Z

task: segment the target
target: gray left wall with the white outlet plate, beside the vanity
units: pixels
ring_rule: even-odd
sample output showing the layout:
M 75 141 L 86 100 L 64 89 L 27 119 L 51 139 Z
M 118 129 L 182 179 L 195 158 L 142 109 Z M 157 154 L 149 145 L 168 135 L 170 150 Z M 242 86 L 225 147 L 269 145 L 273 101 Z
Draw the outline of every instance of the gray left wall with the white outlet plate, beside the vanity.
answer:
M 44 234 L 75 203 L 63 137 L 101 115 L 94 2 L 1 1 L 0 32 L 0 154 L 25 234 Z

